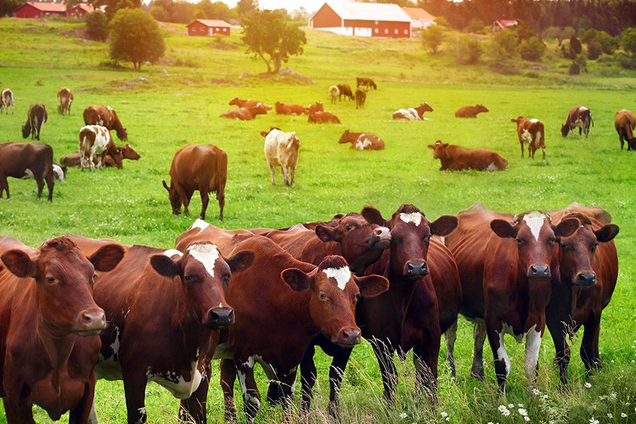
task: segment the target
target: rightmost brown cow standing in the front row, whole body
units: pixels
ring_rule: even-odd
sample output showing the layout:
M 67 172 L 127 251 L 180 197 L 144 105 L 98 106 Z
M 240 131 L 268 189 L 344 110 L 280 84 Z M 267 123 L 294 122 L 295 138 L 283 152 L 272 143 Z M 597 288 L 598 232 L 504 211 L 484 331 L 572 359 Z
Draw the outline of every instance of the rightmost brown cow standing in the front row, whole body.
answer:
M 618 256 L 613 238 L 618 225 L 611 223 L 609 213 L 599 207 L 571 204 L 550 213 L 555 223 L 575 218 L 577 230 L 559 240 L 560 282 L 553 283 L 550 303 L 546 309 L 547 326 L 556 355 L 554 363 L 560 369 L 560 381 L 567 384 L 570 347 L 566 336 L 572 337 L 584 326 L 581 359 L 590 372 L 601 366 L 599 334 L 601 313 L 609 304 L 616 278 Z

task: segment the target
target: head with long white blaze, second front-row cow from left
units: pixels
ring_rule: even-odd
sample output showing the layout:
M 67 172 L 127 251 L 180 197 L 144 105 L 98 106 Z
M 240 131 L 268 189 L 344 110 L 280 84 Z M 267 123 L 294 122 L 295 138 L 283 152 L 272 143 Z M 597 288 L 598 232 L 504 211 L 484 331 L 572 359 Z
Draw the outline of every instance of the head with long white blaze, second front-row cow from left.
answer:
M 224 259 L 209 242 L 192 243 L 184 254 L 168 250 L 150 258 L 151 266 L 162 276 L 181 280 L 189 312 L 201 325 L 214 330 L 234 322 L 234 311 L 225 302 L 230 275 L 249 268 L 253 260 L 254 253 L 249 251 Z

